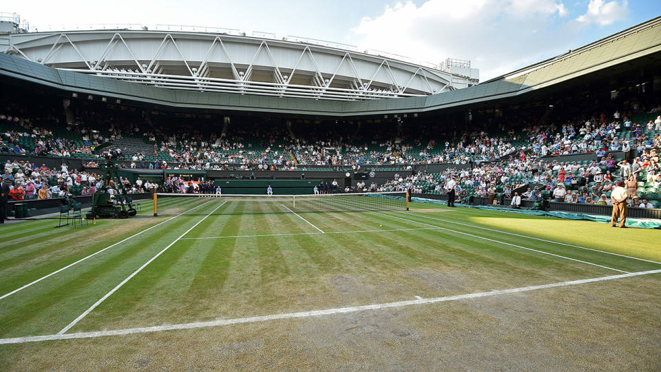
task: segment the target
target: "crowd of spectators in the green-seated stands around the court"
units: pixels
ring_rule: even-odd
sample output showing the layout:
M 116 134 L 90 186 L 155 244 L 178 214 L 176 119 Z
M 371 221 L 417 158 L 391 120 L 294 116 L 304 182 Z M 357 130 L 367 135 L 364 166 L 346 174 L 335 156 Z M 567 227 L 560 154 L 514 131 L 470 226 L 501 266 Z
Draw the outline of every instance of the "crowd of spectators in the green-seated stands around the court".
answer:
M 35 167 L 25 162 L 17 166 L 14 162 L 3 169 L 2 176 L 15 183 L 14 194 L 23 192 L 23 198 L 90 194 L 90 190 L 98 188 L 98 176 L 90 170 L 99 164 L 94 148 L 105 141 L 132 137 L 142 140 L 144 146 L 136 152 L 124 151 L 121 166 L 258 171 L 315 167 L 358 170 L 373 165 L 411 169 L 413 165 L 445 163 L 457 167 L 439 174 L 398 175 L 383 185 L 359 184 L 357 190 L 443 193 L 448 192 L 448 180 L 454 179 L 459 198 L 475 195 L 491 199 L 501 193 L 511 197 L 513 189 L 531 184 L 537 189 L 525 190 L 522 198 L 608 203 L 605 196 L 615 180 L 631 183 L 630 195 L 635 197 L 633 182 L 644 181 L 658 188 L 661 177 L 661 116 L 645 123 L 631 120 L 640 113 L 649 116 L 661 112 L 659 106 L 647 110 L 636 99 L 619 105 L 622 113 L 573 113 L 562 119 L 558 116 L 557 120 L 552 113 L 543 114 L 543 120 L 501 117 L 488 123 L 473 123 L 471 128 L 480 129 L 470 131 L 423 125 L 415 130 L 391 127 L 374 132 L 369 127 L 361 130 L 359 125 L 223 126 L 211 116 L 148 120 L 130 113 L 97 113 L 85 107 L 75 110 L 74 120 L 67 123 L 65 116 L 56 114 L 52 107 L 40 106 L 41 111 L 36 110 L 39 114 L 35 115 L 25 106 L 13 105 L 0 110 L 0 125 L 7 128 L 0 132 L 0 152 L 64 158 L 82 154 L 89 172 Z M 636 156 L 631 157 L 635 159 L 629 164 L 609 155 L 614 151 Z M 549 155 L 586 153 L 594 153 L 597 160 L 590 164 L 543 160 Z M 640 174 L 645 174 L 644 179 L 640 179 Z M 90 182 L 90 178 L 97 182 Z M 173 179 L 162 188 L 181 190 L 187 189 L 187 185 Z M 130 192 L 146 190 L 145 185 L 126 186 Z M 210 188 L 197 183 L 193 189 L 196 187 Z M 640 202 L 645 204 L 642 199 Z

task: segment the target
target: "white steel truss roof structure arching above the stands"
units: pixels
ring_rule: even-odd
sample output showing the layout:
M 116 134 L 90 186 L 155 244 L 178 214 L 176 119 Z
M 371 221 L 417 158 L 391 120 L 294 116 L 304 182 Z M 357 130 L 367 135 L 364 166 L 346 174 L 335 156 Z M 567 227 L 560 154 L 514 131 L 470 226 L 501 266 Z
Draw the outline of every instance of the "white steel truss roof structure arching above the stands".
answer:
M 228 32 L 9 33 L 0 36 L 0 46 L 6 45 L 0 51 L 59 70 L 191 92 L 361 101 L 426 96 L 477 83 L 475 69 L 464 69 L 473 76 L 463 76 L 357 52 L 353 45 Z

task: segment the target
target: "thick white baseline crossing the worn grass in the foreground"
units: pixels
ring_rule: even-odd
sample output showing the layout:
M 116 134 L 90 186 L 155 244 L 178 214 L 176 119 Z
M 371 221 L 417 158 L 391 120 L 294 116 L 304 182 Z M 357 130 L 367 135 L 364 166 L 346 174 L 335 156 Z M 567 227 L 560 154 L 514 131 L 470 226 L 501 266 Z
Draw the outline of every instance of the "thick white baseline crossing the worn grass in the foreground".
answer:
M 445 296 L 437 298 L 423 298 L 416 300 L 408 301 L 399 301 L 399 302 L 386 302 L 381 304 L 368 304 L 355 307 L 340 307 L 335 309 L 325 309 L 325 310 L 313 310 L 313 311 L 300 311 L 297 313 L 280 313 L 269 316 L 251 316 L 247 318 L 234 318 L 234 319 L 220 319 L 220 320 L 211 320 L 208 322 L 193 322 L 193 323 L 183 323 L 183 324 L 165 324 L 161 326 L 152 326 L 152 327 L 139 327 L 139 328 L 127 328 L 127 329 L 115 329 L 111 331 L 95 331 L 95 332 L 78 332 L 78 333 L 58 333 L 55 335 L 38 335 L 38 336 L 26 336 L 26 337 L 17 337 L 17 338 L 1 338 L 0 344 L 23 344 L 25 342 L 41 342 L 41 341 L 53 341 L 53 340 L 70 340 L 76 338 L 98 338 L 112 335 L 131 335 L 135 333 L 150 333 L 150 332 L 162 332 L 162 331 L 173 331 L 178 329 L 198 329 L 198 328 L 208 328 L 208 327 L 222 327 L 230 324 L 246 324 L 246 323 L 256 323 L 256 322 L 268 322 L 272 320 L 280 319 L 294 319 L 294 318 L 312 318 L 319 316 L 330 316 L 334 314 L 342 313 L 355 313 L 359 311 L 374 311 L 379 309 L 390 309 L 397 307 L 409 307 L 412 305 L 419 304 L 433 304 L 437 302 L 449 302 L 457 300 L 469 300 L 472 298 L 483 298 L 483 297 L 492 297 L 506 295 L 510 293 L 521 293 L 529 291 L 537 291 L 540 289 L 549 289 L 557 287 L 569 287 L 573 285 L 583 285 L 587 283 L 594 282 L 603 282 L 606 280 L 616 280 L 622 278 L 630 278 L 632 276 L 642 276 L 661 273 L 659 270 L 650 270 L 650 271 L 638 271 L 636 273 L 625 273 L 618 274 L 613 276 L 602 276 L 600 278 L 590 278 L 590 279 L 580 279 L 580 280 L 570 280 L 567 282 L 556 282 L 547 285 L 533 285 L 529 287 L 519 287 L 512 289 L 499 289 L 489 292 L 478 292 L 478 293 L 468 293 L 461 294 L 456 296 Z

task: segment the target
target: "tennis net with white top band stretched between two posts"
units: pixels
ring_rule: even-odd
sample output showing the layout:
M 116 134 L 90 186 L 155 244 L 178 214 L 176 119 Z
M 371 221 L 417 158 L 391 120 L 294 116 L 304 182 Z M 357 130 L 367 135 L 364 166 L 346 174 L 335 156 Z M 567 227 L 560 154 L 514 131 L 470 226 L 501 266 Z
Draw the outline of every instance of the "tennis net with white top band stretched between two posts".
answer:
M 315 213 L 408 209 L 406 192 L 320 195 L 154 194 L 154 216 L 207 214 L 201 205 L 222 203 L 213 214 Z M 193 209 L 194 208 L 194 209 Z

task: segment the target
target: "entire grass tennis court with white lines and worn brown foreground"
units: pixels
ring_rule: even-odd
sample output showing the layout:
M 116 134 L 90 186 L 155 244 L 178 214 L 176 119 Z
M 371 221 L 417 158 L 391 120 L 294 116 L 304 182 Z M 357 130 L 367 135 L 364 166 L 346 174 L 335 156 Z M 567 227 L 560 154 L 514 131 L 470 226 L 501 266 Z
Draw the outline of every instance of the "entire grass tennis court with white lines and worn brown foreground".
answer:
M 112 350 L 190 366 L 209 366 L 211 353 L 222 355 L 213 365 L 229 367 L 245 353 L 273 357 L 295 340 L 296 352 L 275 366 L 313 366 L 315 351 L 327 347 L 338 358 L 369 347 L 366 358 L 386 363 L 437 352 L 426 340 L 438 332 L 450 349 L 470 351 L 533 330 L 554 341 L 536 352 L 591 342 L 597 362 L 601 347 L 635 337 L 608 349 L 635 367 L 655 353 L 631 358 L 632 350 L 660 341 L 658 231 L 408 205 L 395 194 L 159 198 L 156 217 L 3 228 L 4 366 L 34 351 L 34 368 L 72 365 L 62 351 L 75 345 L 84 366 Z M 570 313 L 571 327 L 558 322 Z M 527 349 L 512 344 L 498 358 Z M 131 345 L 153 353 L 134 355 Z M 401 350 L 386 353 L 393 345 Z

